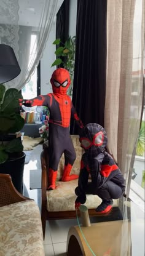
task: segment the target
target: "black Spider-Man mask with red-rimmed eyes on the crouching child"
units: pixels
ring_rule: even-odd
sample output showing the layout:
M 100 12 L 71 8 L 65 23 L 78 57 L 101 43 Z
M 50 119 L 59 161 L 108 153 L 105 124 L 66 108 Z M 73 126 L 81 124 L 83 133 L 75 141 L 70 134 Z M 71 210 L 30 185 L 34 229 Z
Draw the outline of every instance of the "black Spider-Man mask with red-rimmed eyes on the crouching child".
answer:
M 90 157 L 98 156 L 105 151 L 108 143 L 106 131 L 100 124 L 87 124 L 80 132 L 80 146 Z

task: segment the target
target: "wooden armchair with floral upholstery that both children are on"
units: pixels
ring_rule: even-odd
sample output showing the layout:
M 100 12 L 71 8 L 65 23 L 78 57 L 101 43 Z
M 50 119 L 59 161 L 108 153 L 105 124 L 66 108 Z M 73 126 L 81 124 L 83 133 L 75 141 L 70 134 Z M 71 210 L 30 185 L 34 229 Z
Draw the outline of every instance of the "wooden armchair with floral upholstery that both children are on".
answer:
M 76 150 L 76 161 L 74 162 L 71 174 L 78 174 L 80 171 L 80 159 L 82 158 L 83 149 L 80 147 L 79 135 L 71 135 L 72 143 Z M 74 202 L 76 200 L 76 194 L 74 190 L 77 186 L 77 180 L 71 180 L 70 182 L 61 182 L 63 174 L 63 166 L 65 163 L 64 156 L 61 156 L 58 166 L 57 175 L 57 188 L 52 191 L 47 191 L 47 170 L 49 168 L 49 154 L 48 154 L 48 142 L 44 143 L 41 153 L 42 164 L 42 205 L 41 205 L 41 218 L 43 234 L 45 236 L 45 222 L 46 220 L 64 219 L 64 218 L 76 218 L 76 210 Z M 117 206 L 118 201 L 114 200 L 114 206 Z M 98 196 L 91 194 L 87 195 L 87 201 L 85 206 L 88 208 L 90 216 L 96 215 L 95 209 L 101 204 L 101 199 Z

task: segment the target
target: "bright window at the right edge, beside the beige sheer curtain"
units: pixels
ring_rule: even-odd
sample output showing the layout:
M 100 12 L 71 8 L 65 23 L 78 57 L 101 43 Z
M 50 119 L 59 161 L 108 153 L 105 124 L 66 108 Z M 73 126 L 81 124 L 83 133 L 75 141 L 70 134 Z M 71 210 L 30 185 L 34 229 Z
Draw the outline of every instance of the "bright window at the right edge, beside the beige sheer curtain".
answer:
M 142 66 L 141 52 L 141 36 L 142 36 L 142 2 L 136 0 L 134 24 L 133 24 L 133 81 L 132 81 L 132 102 L 131 102 L 131 119 L 133 122 L 139 121 L 141 114 L 141 106 L 138 102 L 142 101 L 140 97 L 140 78 Z M 145 66 L 144 66 L 145 68 Z M 144 137 L 145 137 L 145 108 L 143 118 L 141 120 L 141 129 L 138 134 L 138 142 L 136 146 L 135 162 L 133 165 L 133 174 L 131 180 L 130 199 L 138 204 L 144 210 L 144 182 L 145 182 L 145 166 L 144 166 Z

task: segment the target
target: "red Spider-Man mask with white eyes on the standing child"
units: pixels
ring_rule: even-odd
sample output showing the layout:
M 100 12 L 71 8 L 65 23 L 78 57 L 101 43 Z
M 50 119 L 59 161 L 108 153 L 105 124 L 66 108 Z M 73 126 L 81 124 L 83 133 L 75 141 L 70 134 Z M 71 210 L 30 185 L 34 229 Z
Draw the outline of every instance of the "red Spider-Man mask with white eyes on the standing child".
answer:
M 53 72 L 50 82 L 54 94 L 66 94 L 71 84 L 68 70 L 65 70 L 65 68 L 57 68 L 57 70 Z

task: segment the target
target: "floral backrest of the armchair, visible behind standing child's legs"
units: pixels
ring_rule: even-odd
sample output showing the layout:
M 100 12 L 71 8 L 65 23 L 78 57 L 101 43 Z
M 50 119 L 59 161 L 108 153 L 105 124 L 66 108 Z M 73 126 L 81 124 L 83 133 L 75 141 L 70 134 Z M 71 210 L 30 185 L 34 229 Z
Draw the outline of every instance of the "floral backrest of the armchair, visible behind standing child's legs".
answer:
M 79 135 L 71 135 L 71 139 L 72 139 L 72 143 L 74 145 L 74 149 L 76 151 L 76 160 L 73 164 L 72 170 L 71 170 L 71 174 L 77 174 L 79 175 L 79 171 L 80 171 L 80 161 L 82 158 L 82 154 L 83 154 L 83 149 L 80 147 L 80 142 L 79 142 Z M 60 162 L 58 165 L 58 174 L 57 174 L 57 180 L 60 180 L 62 175 L 63 175 L 63 169 L 65 166 L 65 158 L 64 158 L 64 154 L 61 156 L 60 158 Z

